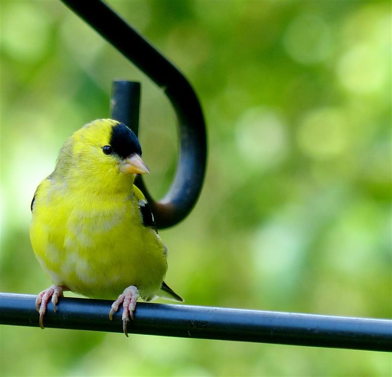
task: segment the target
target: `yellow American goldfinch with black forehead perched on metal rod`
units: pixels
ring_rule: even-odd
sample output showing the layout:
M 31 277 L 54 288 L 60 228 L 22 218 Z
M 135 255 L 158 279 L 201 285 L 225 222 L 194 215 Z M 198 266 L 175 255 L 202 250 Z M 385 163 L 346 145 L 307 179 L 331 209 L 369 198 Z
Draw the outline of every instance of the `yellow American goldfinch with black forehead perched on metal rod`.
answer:
M 36 299 L 39 323 L 63 291 L 114 299 L 109 318 L 123 306 L 125 335 L 138 298 L 183 301 L 164 282 L 167 247 L 147 201 L 134 185 L 149 173 L 137 136 L 124 124 L 98 119 L 60 149 L 54 172 L 31 202 L 30 241 L 54 285 Z

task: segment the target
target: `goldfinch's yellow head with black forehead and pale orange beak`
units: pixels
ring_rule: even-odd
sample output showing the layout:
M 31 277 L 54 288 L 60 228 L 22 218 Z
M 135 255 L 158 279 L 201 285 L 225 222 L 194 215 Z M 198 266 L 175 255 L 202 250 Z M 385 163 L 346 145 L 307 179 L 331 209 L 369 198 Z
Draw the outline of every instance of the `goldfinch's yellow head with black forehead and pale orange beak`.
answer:
M 79 184 L 113 188 L 149 170 L 137 136 L 123 123 L 97 119 L 76 131 L 57 158 L 56 175 Z

